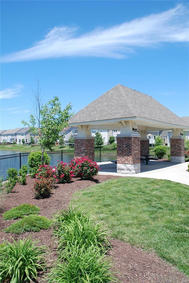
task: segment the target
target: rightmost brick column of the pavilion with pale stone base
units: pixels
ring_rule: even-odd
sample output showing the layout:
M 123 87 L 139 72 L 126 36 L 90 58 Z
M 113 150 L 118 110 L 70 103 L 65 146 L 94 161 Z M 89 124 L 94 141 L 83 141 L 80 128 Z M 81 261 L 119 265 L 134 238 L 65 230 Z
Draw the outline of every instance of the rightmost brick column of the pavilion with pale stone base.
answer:
M 171 162 L 172 163 L 184 163 L 185 162 L 185 149 L 183 137 L 171 137 L 170 138 L 170 150 L 171 150 Z

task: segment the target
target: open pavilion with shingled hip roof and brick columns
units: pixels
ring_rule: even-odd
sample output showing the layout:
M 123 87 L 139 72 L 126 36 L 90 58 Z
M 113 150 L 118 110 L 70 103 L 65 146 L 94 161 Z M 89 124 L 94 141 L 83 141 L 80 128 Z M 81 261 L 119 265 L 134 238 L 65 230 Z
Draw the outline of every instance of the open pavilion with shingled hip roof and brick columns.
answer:
M 119 130 L 117 136 L 117 172 L 140 172 L 140 156 L 149 155 L 147 131 L 172 130 L 171 162 L 183 163 L 182 129 L 189 125 L 154 98 L 120 84 L 97 98 L 69 120 L 78 127 L 74 156 L 94 160 L 94 137 L 91 129 Z

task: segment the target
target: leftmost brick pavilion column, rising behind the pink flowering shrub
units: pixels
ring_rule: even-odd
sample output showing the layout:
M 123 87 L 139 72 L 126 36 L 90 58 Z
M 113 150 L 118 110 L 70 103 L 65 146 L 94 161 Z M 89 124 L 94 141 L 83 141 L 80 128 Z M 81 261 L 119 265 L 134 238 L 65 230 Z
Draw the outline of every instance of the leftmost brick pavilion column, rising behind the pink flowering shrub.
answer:
M 94 161 L 94 137 L 74 138 L 74 157 L 86 156 Z

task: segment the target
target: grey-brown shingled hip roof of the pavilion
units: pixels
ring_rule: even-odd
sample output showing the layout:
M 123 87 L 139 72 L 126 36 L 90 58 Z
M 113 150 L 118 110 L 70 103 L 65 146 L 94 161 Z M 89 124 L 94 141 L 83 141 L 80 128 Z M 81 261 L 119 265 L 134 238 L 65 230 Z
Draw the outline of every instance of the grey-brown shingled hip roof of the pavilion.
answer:
M 180 117 L 175 115 L 153 97 L 143 94 L 134 89 L 117 84 L 115 87 L 107 91 L 101 97 L 97 98 L 82 110 L 77 112 L 69 120 L 70 126 L 86 124 L 100 125 L 105 123 L 113 123 L 120 120 L 133 120 L 137 118 L 137 125 L 146 125 L 145 121 L 158 121 L 163 124 L 172 124 L 187 127 L 188 124 Z M 140 122 L 139 122 L 140 120 Z M 150 123 L 147 123 L 148 126 Z M 155 125 L 155 123 L 154 123 Z M 154 126 L 153 125 L 153 126 Z M 157 127 L 160 126 L 156 125 Z M 148 129 L 149 130 L 149 129 Z

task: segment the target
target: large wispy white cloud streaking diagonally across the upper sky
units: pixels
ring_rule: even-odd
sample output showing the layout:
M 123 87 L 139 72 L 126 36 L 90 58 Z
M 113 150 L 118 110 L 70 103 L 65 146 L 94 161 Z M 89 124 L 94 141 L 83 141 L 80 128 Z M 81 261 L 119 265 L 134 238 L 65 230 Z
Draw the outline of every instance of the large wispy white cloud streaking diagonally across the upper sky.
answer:
M 55 27 L 29 49 L 2 57 L 1 62 L 29 61 L 66 56 L 123 58 L 136 47 L 162 42 L 186 42 L 188 10 L 183 5 L 168 11 L 124 22 L 108 29 L 98 28 L 77 35 L 78 28 Z

